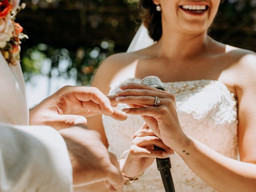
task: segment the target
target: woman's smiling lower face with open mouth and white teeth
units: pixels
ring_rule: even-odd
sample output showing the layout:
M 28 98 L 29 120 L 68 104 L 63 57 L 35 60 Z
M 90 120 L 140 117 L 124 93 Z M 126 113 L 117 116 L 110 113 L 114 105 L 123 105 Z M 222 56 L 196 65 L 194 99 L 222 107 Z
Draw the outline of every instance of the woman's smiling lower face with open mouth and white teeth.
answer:
M 153 0 L 162 7 L 162 23 L 182 33 L 208 30 L 218 11 L 220 0 Z

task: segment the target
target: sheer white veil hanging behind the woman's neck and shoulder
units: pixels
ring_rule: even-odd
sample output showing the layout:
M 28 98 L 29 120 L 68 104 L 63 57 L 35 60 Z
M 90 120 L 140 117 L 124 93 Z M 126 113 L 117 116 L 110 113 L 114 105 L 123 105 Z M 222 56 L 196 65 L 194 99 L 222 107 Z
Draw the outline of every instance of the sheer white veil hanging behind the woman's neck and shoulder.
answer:
M 134 52 L 154 44 L 154 40 L 148 35 L 148 29 L 142 24 L 135 34 L 127 52 Z

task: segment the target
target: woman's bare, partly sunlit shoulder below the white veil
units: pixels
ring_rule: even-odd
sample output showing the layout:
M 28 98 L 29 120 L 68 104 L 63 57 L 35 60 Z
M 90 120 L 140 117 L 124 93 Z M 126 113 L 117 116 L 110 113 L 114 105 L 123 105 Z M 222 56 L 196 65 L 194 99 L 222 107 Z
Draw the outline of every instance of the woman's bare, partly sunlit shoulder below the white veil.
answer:
M 137 60 L 138 57 L 133 53 L 118 53 L 109 56 L 96 71 L 91 86 L 108 94 L 112 82 L 134 76 Z

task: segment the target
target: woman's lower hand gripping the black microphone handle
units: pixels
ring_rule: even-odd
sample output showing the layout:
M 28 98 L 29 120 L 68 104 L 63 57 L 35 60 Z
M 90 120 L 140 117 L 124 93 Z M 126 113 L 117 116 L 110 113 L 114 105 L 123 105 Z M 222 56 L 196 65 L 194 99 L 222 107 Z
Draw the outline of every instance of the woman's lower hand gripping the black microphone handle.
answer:
M 156 145 L 164 151 L 154 150 Z M 148 168 L 155 158 L 167 158 L 174 151 L 166 146 L 145 123 L 135 134 L 128 156 L 120 166 L 122 173 L 128 178 L 135 178 Z

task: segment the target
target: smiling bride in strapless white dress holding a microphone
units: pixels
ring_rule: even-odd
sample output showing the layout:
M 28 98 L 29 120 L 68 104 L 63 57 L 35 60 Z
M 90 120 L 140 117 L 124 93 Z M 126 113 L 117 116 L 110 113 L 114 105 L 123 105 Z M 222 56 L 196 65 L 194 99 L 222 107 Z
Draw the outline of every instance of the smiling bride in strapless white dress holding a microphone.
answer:
M 176 192 L 255 191 L 256 54 L 207 35 L 220 0 L 140 4 L 156 43 L 110 56 L 92 82 L 104 94 L 118 96 L 128 119 L 88 119 L 120 158 L 124 191 L 164 192 L 155 158 L 170 154 Z M 147 43 L 142 36 L 137 42 Z M 140 85 L 151 75 L 165 82 L 169 93 Z M 156 107 L 154 96 L 160 98 Z M 165 151 L 154 151 L 153 144 Z

